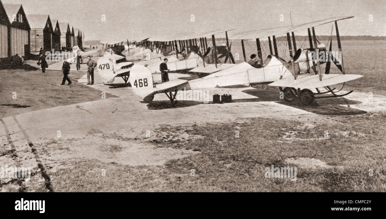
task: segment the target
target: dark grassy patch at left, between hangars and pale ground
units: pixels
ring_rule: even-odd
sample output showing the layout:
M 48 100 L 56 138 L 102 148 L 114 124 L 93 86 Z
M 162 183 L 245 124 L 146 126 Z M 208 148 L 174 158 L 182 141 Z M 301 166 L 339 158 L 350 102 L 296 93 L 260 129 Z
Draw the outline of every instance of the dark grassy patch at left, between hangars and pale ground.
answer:
M 46 70 L 0 70 L 0 118 L 18 115 L 29 111 L 41 110 L 85 101 L 98 100 L 102 94 L 91 87 L 78 84 L 77 80 L 85 72 L 71 71 L 71 86 L 60 85 L 62 71 Z M 16 99 L 13 93 L 16 92 Z M 106 94 L 106 98 L 115 97 Z

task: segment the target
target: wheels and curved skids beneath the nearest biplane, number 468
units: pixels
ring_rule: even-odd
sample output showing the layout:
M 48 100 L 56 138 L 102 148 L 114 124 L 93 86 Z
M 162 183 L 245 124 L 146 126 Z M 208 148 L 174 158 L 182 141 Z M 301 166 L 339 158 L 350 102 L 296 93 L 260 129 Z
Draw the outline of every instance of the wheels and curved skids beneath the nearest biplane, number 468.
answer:
M 344 85 L 343 85 L 344 86 Z M 283 92 L 284 94 L 284 100 L 287 102 L 293 102 L 293 101 L 298 101 L 303 106 L 310 105 L 315 99 L 319 98 L 336 98 L 336 97 L 342 97 L 346 96 L 347 94 L 352 93 L 352 91 L 347 92 L 345 94 L 337 94 L 336 92 L 339 92 L 343 89 L 343 87 L 339 91 L 335 91 L 335 88 L 331 88 L 330 86 L 324 87 L 327 91 L 320 92 L 318 88 L 316 88 L 317 93 L 312 92 L 310 89 L 300 89 L 298 88 L 297 90 L 293 87 L 286 87 L 282 88 L 279 87 L 280 91 Z M 331 93 L 332 95 L 330 96 L 316 96 L 318 94 L 327 94 Z

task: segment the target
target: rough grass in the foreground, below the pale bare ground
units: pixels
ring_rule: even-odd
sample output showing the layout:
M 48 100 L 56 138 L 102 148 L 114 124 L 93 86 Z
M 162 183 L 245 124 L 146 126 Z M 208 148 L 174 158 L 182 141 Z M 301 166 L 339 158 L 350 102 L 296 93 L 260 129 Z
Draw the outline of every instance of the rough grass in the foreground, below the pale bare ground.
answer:
M 386 128 L 377 125 L 385 122 L 384 113 L 376 113 L 319 121 L 304 116 L 302 121 L 254 118 L 161 125 L 154 137 L 135 141 L 200 153 L 164 166 L 66 160 L 62 165 L 72 167 L 58 168 L 51 182 L 58 192 L 386 192 Z M 288 158 L 302 157 L 325 164 L 287 163 Z M 297 179 L 264 177 L 271 165 L 296 167 Z

